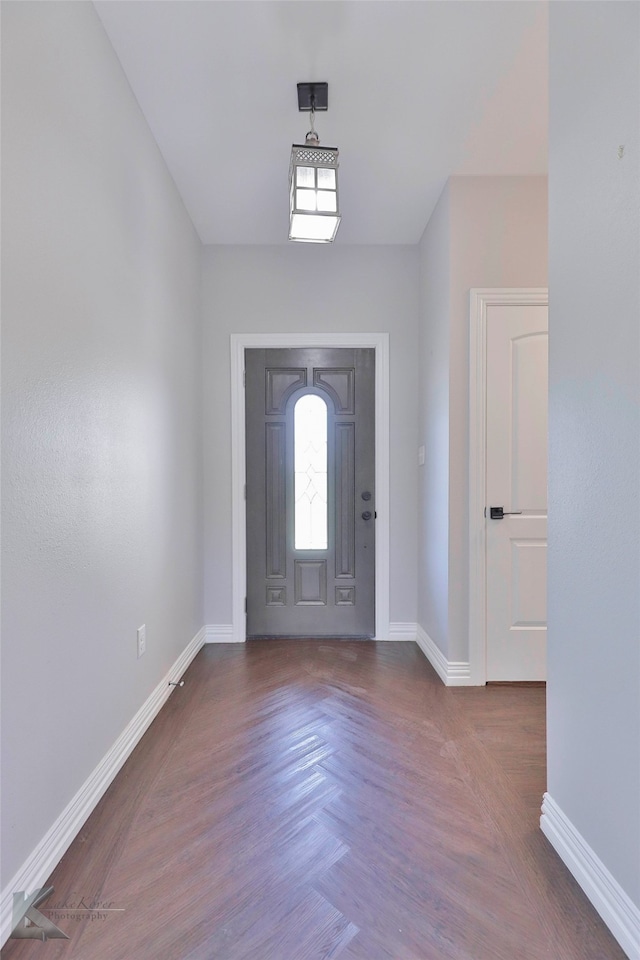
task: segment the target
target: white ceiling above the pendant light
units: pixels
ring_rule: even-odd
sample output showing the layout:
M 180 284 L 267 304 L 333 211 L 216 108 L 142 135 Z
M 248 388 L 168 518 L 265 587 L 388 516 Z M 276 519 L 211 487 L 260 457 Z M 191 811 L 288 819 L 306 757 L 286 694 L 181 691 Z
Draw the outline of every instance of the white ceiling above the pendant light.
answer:
M 543 0 L 95 0 L 204 243 L 287 242 L 296 83 L 340 150 L 336 243 L 416 243 L 454 174 L 544 174 Z

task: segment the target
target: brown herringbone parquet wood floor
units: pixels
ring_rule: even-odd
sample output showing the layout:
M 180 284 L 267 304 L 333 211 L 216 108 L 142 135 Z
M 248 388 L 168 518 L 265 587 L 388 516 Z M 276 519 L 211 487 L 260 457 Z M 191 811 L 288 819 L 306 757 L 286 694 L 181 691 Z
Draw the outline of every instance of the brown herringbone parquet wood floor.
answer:
M 539 830 L 543 688 L 363 641 L 185 680 L 50 878 L 70 939 L 3 960 L 623 960 Z

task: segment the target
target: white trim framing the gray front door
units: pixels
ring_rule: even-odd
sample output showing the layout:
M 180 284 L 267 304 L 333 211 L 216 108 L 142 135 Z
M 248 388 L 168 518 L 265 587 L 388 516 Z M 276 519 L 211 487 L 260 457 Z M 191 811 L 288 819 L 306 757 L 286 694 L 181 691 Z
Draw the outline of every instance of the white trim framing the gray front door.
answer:
M 244 490 L 244 352 L 283 347 L 371 348 L 375 351 L 376 474 L 376 640 L 389 639 L 389 334 L 388 333 L 232 333 L 231 350 L 231 528 L 233 639 L 247 638 L 247 520 Z

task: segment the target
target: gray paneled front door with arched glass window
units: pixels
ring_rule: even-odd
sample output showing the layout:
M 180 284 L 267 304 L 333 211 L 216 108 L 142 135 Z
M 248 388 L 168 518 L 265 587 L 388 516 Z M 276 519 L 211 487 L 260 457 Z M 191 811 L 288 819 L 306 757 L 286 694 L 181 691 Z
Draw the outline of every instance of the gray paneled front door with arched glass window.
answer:
M 375 634 L 375 351 L 245 352 L 247 636 Z

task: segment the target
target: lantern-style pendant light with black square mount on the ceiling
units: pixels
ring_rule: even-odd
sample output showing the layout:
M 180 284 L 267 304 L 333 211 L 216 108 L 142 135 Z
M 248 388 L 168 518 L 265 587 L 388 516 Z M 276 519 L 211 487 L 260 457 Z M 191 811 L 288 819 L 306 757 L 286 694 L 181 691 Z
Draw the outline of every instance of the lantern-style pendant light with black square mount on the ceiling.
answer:
M 340 225 L 338 148 L 322 147 L 314 120 L 328 106 L 327 83 L 299 83 L 298 109 L 311 113 L 304 144 L 291 147 L 289 165 L 289 240 L 331 243 Z

